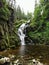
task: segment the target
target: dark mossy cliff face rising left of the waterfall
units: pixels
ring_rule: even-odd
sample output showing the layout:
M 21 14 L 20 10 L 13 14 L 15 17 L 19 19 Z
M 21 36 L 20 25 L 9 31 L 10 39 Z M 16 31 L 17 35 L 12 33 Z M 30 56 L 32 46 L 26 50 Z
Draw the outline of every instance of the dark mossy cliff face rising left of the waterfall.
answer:
M 6 0 L 0 0 L 0 49 L 17 45 L 14 29 L 14 9 L 7 5 Z

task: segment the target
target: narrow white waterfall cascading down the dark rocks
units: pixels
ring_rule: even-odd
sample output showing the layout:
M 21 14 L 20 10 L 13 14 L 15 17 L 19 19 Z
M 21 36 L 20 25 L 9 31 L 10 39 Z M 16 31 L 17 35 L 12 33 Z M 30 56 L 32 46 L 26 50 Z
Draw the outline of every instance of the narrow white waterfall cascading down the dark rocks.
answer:
M 20 37 L 21 45 L 25 45 L 25 34 L 23 33 L 23 31 L 26 27 L 28 27 L 29 22 L 30 20 L 28 20 L 27 23 L 23 23 L 18 29 L 18 36 Z

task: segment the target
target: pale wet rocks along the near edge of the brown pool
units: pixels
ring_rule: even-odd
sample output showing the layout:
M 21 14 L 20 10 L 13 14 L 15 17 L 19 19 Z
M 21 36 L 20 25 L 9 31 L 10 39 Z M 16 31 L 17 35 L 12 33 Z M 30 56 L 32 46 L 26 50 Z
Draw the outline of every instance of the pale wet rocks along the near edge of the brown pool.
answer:
M 34 59 L 33 57 L 18 57 L 15 55 L 9 55 L 9 57 L 0 56 L 0 65 L 46 65 L 40 62 L 40 59 Z

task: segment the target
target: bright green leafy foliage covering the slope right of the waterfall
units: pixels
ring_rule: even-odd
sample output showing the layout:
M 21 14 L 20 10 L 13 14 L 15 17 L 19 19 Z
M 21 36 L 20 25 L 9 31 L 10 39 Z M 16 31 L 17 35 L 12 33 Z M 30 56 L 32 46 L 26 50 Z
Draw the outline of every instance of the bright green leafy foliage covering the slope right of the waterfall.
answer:
M 30 26 L 32 30 L 28 31 L 28 37 L 33 43 L 49 44 L 49 1 L 40 0 Z

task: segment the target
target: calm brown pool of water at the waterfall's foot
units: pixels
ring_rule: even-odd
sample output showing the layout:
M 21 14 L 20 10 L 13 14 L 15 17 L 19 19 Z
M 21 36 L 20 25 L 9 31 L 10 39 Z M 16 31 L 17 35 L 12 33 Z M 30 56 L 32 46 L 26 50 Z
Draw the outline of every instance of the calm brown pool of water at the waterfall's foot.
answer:
M 49 46 L 45 45 L 22 45 L 15 49 L 0 51 L 0 55 L 8 57 L 15 55 L 16 59 L 23 57 L 27 62 L 32 59 L 39 59 L 44 65 L 49 65 Z M 26 65 L 26 64 L 25 64 Z

